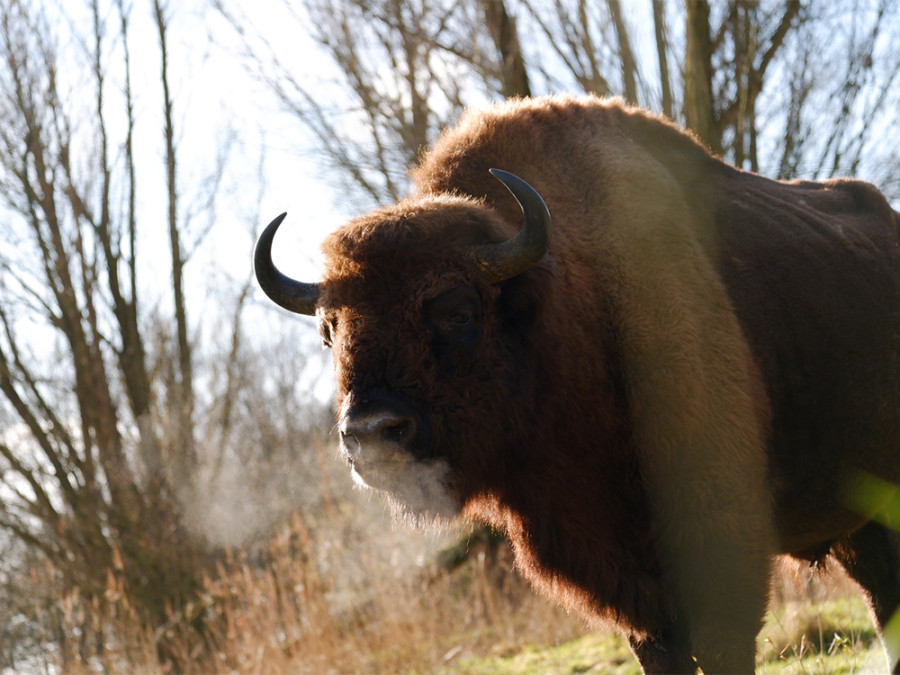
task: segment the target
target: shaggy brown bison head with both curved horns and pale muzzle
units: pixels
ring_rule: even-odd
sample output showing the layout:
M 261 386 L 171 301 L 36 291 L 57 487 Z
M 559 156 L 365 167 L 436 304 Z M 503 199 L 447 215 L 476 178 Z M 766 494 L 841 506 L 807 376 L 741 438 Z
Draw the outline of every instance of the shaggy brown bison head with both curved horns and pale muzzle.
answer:
M 272 263 L 284 215 L 259 238 L 260 286 L 318 317 L 332 349 L 340 447 L 354 479 L 416 520 L 455 517 L 508 475 L 527 429 L 527 333 L 544 302 L 550 214 L 521 178 L 492 170 L 525 224 L 468 197 L 409 199 L 351 221 L 323 245 L 325 274 L 295 281 Z M 533 388 L 533 387 L 532 387 Z M 523 410 L 521 405 L 517 410 Z M 532 413 L 536 414 L 536 410 Z M 513 431 L 515 430 L 515 432 Z M 460 469 L 465 467 L 465 471 Z

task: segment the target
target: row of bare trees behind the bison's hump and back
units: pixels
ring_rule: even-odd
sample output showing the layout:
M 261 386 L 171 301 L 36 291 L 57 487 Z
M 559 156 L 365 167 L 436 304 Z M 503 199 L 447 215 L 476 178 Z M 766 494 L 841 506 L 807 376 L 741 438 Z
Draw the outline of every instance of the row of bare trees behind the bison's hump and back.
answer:
M 218 5 L 234 16 L 227 0 Z M 782 176 L 801 168 L 806 175 L 859 173 L 889 166 L 896 156 L 868 140 L 872 130 L 891 126 L 897 103 L 897 0 L 466 0 L 444 10 L 393 0 L 377 9 L 366 3 L 365 11 L 358 0 L 328 0 L 327 11 L 323 0 L 306 0 L 304 6 L 313 17 L 305 24 L 346 78 L 354 104 L 327 101 L 321 90 L 314 95 L 283 69 L 260 70 L 313 128 L 325 156 L 376 201 L 402 194 L 400 167 L 467 98 L 523 93 L 620 95 L 690 127 L 729 161 Z M 246 30 L 252 22 L 245 19 L 235 25 Z M 643 29 L 651 23 L 652 41 Z M 453 105 L 412 95 L 409 62 L 390 56 L 403 53 L 399 46 L 410 44 L 410 34 L 428 64 L 415 71 L 415 91 L 452 91 Z M 367 35 L 376 39 L 362 38 Z M 377 50 L 360 52 L 371 44 Z M 270 55 L 273 62 L 283 57 Z M 255 60 L 264 62 L 259 50 Z M 679 61 L 680 67 L 671 65 Z M 375 64 L 391 77 L 402 75 L 404 86 L 372 76 Z M 467 77 L 453 77 L 463 71 Z M 827 100 L 840 105 L 821 105 Z M 371 141 L 334 133 L 349 110 Z M 428 119 L 424 127 L 416 122 L 422 119 Z M 813 126 L 827 129 L 825 138 L 810 133 Z M 896 147 L 896 135 L 891 138 Z M 878 169 L 873 177 L 889 182 L 890 172 Z

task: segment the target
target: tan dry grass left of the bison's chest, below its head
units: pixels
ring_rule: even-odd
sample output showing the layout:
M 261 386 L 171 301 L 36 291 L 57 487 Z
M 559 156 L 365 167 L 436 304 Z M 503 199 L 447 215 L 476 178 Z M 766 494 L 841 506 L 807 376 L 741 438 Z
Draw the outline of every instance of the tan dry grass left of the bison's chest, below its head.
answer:
M 337 567 L 356 547 L 336 546 L 333 528 L 323 533 L 295 515 L 254 555 L 229 552 L 203 594 L 163 626 L 141 625 L 112 575 L 101 599 L 69 594 L 46 634 L 47 665 L 76 674 L 414 673 L 586 632 L 519 580 L 505 547 L 473 544 L 452 573 L 413 565 L 398 575 L 396 561 L 374 553 L 354 553 L 358 569 L 347 569 L 350 558 Z

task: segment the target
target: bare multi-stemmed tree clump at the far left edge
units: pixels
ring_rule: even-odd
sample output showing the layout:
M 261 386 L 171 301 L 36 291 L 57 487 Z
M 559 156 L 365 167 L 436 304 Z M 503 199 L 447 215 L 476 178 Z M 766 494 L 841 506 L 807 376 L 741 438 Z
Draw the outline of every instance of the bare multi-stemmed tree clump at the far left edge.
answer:
M 93 0 L 91 34 L 63 55 L 41 4 L 0 5 L 0 530 L 39 552 L 61 588 L 99 597 L 110 574 L 119 578 L 157 626 L 196 593 L 205 551 L 175 489 L 197 462 L 172 101 L 164 86 L 174 383 L 154 371 L 165 355 L 142 320 L 130 16 L 125 3 L 115 8 L 107 25 Z M 166 85 L 166 18 L 155 9 Z M 125 75 L 111 83 L 113 57 Z M 73 95 L 84 88 L 91 97 Z M 120 141 L 113 128 L 124 129 Z

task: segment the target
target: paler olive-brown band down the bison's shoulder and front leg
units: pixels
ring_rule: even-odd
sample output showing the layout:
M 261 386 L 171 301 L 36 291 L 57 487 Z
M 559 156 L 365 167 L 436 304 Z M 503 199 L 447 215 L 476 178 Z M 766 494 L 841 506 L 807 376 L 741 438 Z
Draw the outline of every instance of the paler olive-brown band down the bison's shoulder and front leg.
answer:
M 623 261 L 609 288 L 635 449 L 674 621 L 707 675 L 749 673 L 775 552 L 768 401 L 690 214 L 666 215 L 635 217 L 610 242 Z M 658 642 L 650 662 L 680 650 Z

